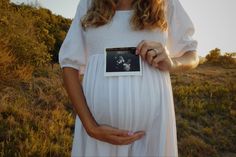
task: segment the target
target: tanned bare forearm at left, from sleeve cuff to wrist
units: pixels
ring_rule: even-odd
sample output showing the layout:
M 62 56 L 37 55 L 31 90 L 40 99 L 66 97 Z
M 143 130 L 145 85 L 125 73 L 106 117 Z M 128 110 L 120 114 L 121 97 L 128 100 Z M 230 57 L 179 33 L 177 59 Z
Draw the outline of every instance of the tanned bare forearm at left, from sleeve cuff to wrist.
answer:
M 89 133 L 94 126 L 97 125 L 94 120 L 79 80 L 79 74 L 76 69 L 73 68 L 63 68 L 63 81 L 65 84 L 65 89 L 72 101 L 73 107 L 78 114 L 84 128 Z

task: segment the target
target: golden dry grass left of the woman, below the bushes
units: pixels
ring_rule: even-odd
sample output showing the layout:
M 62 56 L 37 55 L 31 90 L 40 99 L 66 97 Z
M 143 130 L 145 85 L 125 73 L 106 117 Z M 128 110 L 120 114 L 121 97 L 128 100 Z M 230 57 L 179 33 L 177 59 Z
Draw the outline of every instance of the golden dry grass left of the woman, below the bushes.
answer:
M 0 156 L 69 156 L 74 117 L 59 71 L 0 89 Z

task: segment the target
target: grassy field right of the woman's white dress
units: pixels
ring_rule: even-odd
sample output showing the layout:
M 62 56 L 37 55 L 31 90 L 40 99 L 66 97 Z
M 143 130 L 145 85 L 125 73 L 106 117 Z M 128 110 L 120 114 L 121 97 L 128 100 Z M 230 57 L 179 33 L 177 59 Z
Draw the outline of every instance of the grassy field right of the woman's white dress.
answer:
M 236 153 L 235 82 L 236 68 L 208 64 L 172 75 L 181 156 Z

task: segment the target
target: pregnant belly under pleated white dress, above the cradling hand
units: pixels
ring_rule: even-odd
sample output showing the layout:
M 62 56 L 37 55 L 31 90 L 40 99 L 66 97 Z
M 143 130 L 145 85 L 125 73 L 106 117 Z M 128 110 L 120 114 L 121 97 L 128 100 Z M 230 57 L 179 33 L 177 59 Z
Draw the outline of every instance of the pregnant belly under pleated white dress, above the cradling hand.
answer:
M 83 80 L 87 104 L 99 124 L 132 131 L 148 131 L 158 118 L 166 74 L 143 64 L 142 76 L 106 77 L 93 62 Z

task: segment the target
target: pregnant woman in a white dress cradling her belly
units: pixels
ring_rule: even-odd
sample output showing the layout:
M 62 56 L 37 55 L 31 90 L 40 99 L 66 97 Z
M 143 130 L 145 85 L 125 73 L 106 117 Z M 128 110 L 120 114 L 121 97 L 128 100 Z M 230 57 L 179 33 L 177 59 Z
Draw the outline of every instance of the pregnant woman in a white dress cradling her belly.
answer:
M 198 65 L 193 33 L 178 0 L 80 0 L 59 52 L 73 157 L 178 156 L 170 73 Z M 136 47 L 142 75 L 104 76 L 114 47 Z

